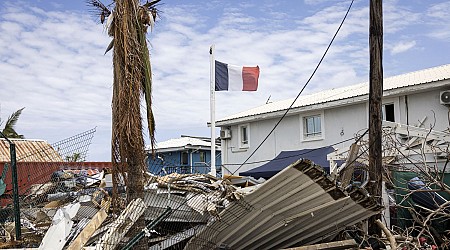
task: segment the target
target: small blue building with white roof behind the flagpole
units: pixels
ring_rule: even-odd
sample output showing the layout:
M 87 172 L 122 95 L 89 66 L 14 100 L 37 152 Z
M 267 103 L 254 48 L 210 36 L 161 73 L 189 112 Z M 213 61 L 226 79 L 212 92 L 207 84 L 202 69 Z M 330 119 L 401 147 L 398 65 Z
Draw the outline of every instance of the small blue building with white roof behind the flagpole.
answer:
M 147 146 L 147 164 L 151 173 L 166 175 L 207 174 L 211 171 L 211 139 L 181 136 L 156 144 L 155 155 Z M 216 173 L 221 176 L 220 140 L 216 140 Z

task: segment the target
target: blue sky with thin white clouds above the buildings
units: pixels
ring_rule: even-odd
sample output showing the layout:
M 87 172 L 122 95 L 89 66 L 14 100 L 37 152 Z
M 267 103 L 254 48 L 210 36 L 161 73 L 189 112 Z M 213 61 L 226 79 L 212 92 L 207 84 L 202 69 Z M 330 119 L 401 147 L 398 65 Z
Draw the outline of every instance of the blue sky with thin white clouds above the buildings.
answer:
M 161 0 L 147 35 L 156 141 L 210 136 L 211 45 L 216 60 L 261 70 L 256 92 L 216 92 L 217 119 L 294 98 L 350 3 Z M 355 0 L 303 94 L 368 81 L 368 5 Z M 383 1 L 384 76 L 450 63 L 448 13 L 450 1 Z M 110 161 L 111 38 L 86 2 L 2 0 L 0 34 L 1 120 L 25 107 L 16 130 L 50 143 L 96 128 L 87 160 Z

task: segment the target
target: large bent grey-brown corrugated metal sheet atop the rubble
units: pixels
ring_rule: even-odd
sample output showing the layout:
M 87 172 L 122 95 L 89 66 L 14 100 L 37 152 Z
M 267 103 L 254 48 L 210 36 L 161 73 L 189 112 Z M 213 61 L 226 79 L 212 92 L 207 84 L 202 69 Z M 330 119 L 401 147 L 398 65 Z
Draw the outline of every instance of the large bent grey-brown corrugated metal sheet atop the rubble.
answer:
M 338 189 L 323 170 L 299 160 L 232 203 L 186 249 L 280 249 L 317 243 L 382 206 L 364 190 Z

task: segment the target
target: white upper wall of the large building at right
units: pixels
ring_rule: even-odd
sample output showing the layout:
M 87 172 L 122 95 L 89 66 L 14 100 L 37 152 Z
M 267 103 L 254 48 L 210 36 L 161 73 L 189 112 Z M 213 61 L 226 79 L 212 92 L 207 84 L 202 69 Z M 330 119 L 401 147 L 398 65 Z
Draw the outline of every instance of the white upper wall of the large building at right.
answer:
M 408 118 L 409 124 L 415 125 L 418 120 L 427 116 L 425 127 L 429 128 L 430 124 L 435 124 L 435 129 L 442 131 L 449 127 L 447 118 L 449 109 L 439 103 L 439 92 L 441 90 L 443 89 L 408 95 L 408 108 L 406 108 L 405 96 L 401 94 L 383 98 L 383 103 L 394 103 L 396 122 L 406 124 Z M 433 111 L 436 115 L 433 115 Z M 301 133 L 303 126 L 302 117 L 318 112 L 323 112 L 323 139 L 303 141 Z M 240 172 L 264 164 L 283 150 L 318 148 L 330 145 L 334 148 L 348 147 L 353 140 L 343 141 L 354 138 L 357 133 L 364 133 L 368 128 L 368 102 L 288 115 L 269 136 L 267 141 L 248 160 L 247 163 L 251 164 L 245 164 L 239 169 L 237 169 L 238 165 L 228 165 L 242 164 L 247 160 L 278 120 L 279 118 L 250 122 L 250 145 L 247 149 L 239 149 L 238 125 L 231 126 L 232 138 L 230 140 L 222 140 L 222 163 L 225 167 L 235 175 L 238 175 Z M 223 173 L 227 174 L 229 172 L 224 170 Z

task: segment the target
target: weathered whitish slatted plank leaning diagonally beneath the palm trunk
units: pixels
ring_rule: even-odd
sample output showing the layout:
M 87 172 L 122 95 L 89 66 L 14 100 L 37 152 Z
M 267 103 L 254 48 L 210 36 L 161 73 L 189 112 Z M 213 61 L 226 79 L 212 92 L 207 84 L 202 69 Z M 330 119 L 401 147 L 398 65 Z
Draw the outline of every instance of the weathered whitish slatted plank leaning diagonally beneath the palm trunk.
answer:
M 108 231 L 100 238 L 95 249 L 115 249 L 146 208 L 140 198 L 131 201 L 120 216 L 109 225 Z

